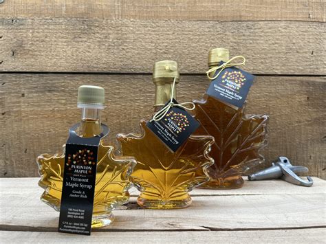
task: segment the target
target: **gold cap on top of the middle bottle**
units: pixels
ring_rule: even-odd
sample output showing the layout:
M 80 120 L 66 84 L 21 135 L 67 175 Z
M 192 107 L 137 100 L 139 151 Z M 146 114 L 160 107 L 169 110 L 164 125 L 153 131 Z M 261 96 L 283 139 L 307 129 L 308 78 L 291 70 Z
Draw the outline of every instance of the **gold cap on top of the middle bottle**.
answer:
M 166 79 L 167 78 L 167 79 Z M 177 62 L 173 60 L 162 60 L 156 62 L 153 68 L 153 82 L 164 80 L 165 82 L 179 82 L 180 72 Z

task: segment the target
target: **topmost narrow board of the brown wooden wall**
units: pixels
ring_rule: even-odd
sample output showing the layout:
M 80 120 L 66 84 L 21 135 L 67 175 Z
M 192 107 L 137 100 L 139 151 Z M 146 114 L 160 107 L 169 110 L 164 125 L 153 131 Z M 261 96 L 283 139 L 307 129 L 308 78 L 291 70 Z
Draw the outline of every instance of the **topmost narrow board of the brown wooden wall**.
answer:
M 325 21 L 325 1 L 10 0 L 0 5 L 0 15 L 189 21 Z

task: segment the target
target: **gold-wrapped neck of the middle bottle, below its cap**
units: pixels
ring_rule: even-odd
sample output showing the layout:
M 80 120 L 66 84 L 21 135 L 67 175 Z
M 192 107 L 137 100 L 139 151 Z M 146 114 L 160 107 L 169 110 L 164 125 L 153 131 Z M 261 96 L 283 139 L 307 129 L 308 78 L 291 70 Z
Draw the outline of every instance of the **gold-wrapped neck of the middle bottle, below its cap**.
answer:
M 177 98 L 177 89 L 175 84 L 175 89 L 172 93 L 172 87 L 173 87 L 173 80 L 171 82 L 171 78 L 164 80 L 161 79 L 160 81 L 155 81 L 155 104 L 154 104 L 154 111 L 160 110 L 166 102 L 169 102 L 171 100 L 171 96 L 173 96 L 174 99 Z

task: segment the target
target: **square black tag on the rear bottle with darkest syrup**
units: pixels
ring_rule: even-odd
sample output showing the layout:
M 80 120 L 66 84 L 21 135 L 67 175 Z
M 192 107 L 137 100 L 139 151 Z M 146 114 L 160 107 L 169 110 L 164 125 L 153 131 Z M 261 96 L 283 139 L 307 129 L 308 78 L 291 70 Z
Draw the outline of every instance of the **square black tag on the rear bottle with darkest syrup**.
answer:
M 215 74 L 217 72 L 219 70 Z M 254 76 L 252 74 L 236 67 L 229 67 L 221 71 L 221 74 L 210 82 L 206 93 L 209 96 L 241 108 L 246 101 L 253 81 Z

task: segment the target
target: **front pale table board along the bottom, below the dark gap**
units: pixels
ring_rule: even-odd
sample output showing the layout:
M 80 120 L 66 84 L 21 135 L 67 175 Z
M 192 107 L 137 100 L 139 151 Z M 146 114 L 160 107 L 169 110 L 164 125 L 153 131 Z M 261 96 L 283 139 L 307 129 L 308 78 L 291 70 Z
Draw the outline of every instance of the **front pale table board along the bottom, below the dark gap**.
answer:
M 3 243 L 323 243 L 325 228 L 259 231 L 94 232 L 90 237 L 54 232 L 1 231 Z

